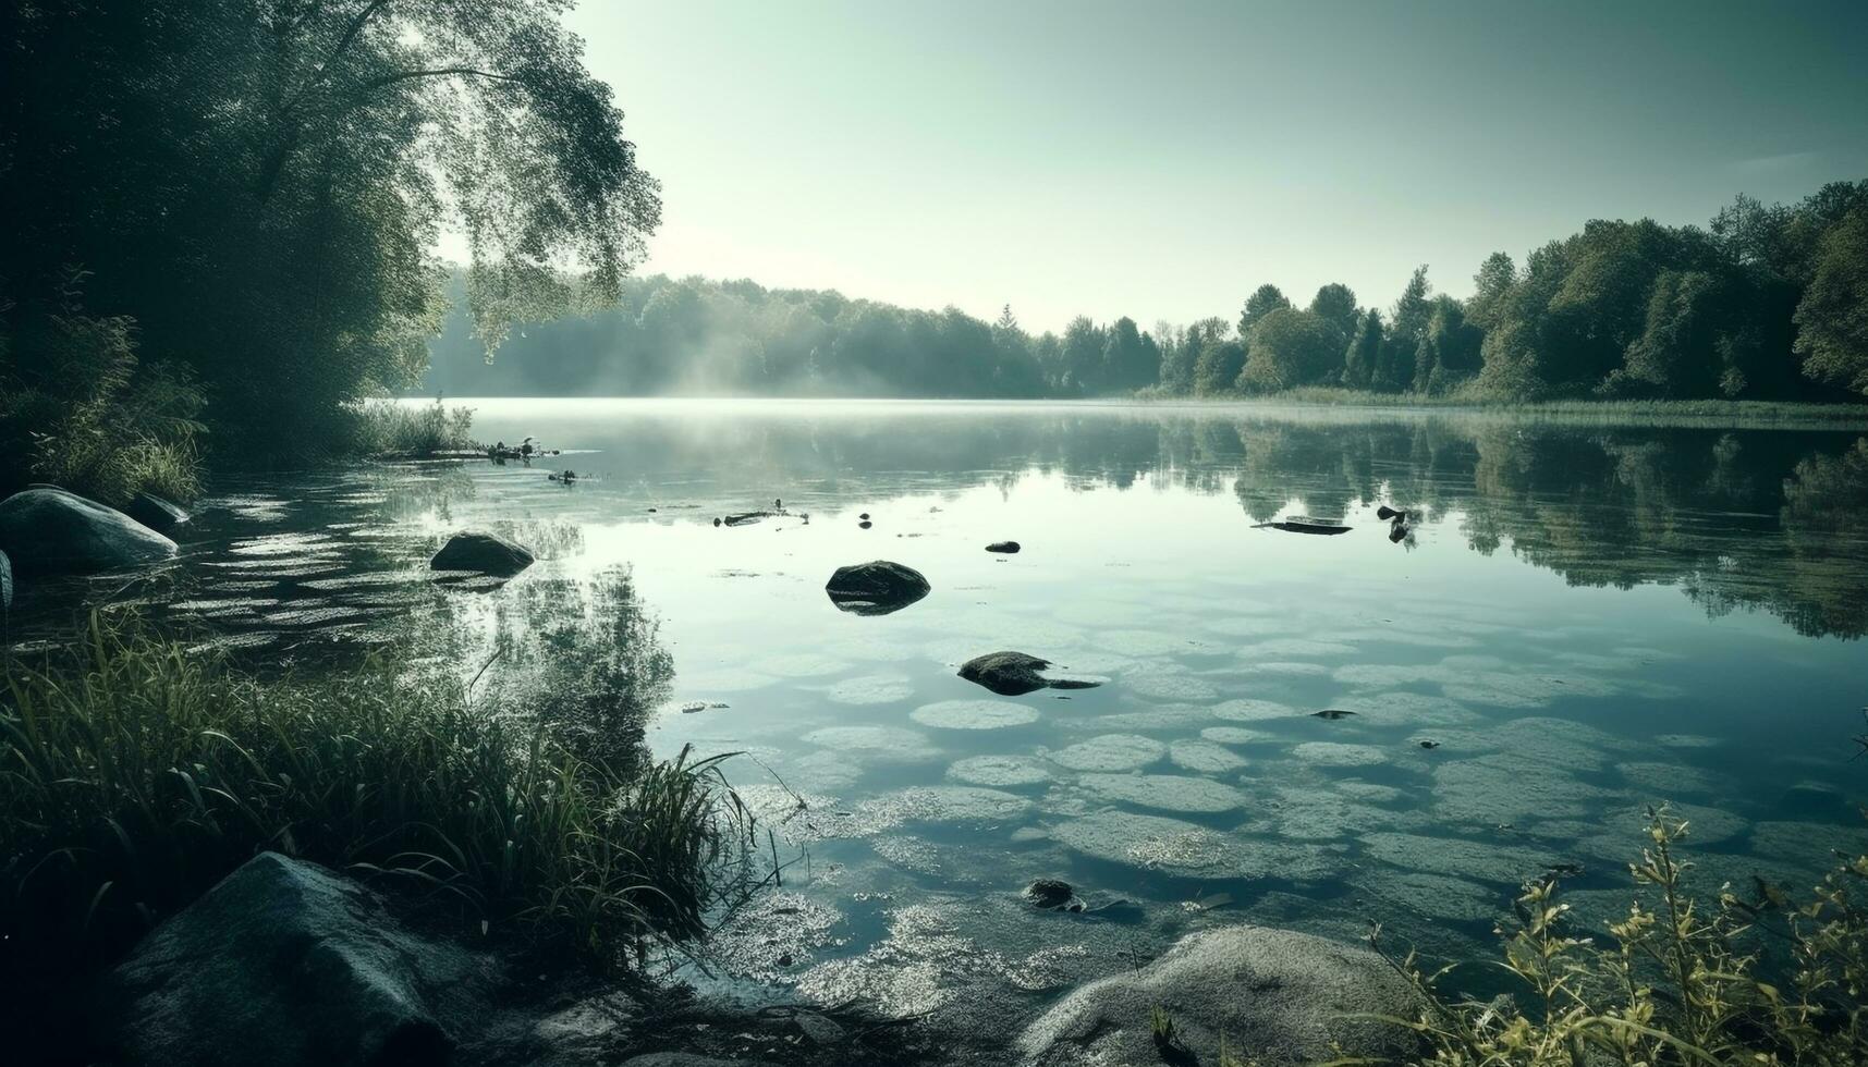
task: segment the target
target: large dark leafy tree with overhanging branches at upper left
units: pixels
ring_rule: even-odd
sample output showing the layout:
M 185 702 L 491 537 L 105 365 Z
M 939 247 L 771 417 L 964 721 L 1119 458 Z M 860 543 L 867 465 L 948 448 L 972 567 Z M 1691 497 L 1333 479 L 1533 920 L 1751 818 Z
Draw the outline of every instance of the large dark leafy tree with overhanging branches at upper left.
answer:
M 7 6 L 0 306 L 41 329 L 90 269 L 86 305 L 202 383 L 217 454 L 342 447 L 347 405 L 426 363 L 445 226 L 467 237 L 488 346 L 613 301 L 641 260 L 656 185 L 562 7 Z

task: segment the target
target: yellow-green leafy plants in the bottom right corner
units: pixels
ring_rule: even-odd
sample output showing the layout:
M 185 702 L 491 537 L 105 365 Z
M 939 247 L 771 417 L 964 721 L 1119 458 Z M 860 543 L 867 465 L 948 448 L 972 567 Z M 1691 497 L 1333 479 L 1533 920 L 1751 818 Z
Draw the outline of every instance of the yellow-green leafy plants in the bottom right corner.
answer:
M 1416 959 L 1390 960 L 1427 998 L 1405 1022 L 1435 1067 L 1821 1065 L 1868 1061 L 1868 856 L 1844 858 L 1808 903 L 1765 888 L 1717 901 L 1685 889 L 1687 824 L 1653 813 L 1629 867 L 1636 899 L 1610 940 L 1577 936 L 1558 882 L 1524 888 L 1500 927 L 1504 968 L 1522 996 L 1476 1003 L 1440 994 Z M 1380 931 L 1371 936 L 1379 951 Z M 1386 955 L 1386 953 L 1384 953 Z

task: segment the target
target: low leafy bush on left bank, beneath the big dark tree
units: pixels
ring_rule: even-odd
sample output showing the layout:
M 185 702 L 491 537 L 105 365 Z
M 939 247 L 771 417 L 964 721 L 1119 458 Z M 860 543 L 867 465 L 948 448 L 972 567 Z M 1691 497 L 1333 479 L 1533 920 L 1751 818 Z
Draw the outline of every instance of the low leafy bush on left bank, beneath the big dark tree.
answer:
M 202 404 L 185 370 L 138 359 L 127 318 L 0 321 L 0 495 L 50 482 L 112 505 L 138 491 L 185 501 Z

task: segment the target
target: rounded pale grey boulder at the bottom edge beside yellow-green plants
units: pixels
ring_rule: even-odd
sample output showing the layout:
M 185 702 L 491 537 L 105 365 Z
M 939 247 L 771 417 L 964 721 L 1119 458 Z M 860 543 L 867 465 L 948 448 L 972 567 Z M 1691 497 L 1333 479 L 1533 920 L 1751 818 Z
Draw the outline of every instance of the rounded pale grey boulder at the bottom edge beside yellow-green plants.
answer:
M 1160 1005 L 1179 1046 L 1199 1063 L 1218 1060 L 1220 1041 L 1263 1067 L 1339 1058 L 1408 1061 L 1416 1035 L 1392 1022 L 1412 1018 L 1418 998 L 1375 953 L 1270 927 L 1225 927 L 1181 938 L 1149 966 L 1093 981 L 1026 1028 L 1027 1067 L 1156 1063 L 1149 1028 Z M 1358 1018 L 1351 1018 L 1351 1017 Z M 1341 1052 L 1332 1048 L 1341 1043 Z

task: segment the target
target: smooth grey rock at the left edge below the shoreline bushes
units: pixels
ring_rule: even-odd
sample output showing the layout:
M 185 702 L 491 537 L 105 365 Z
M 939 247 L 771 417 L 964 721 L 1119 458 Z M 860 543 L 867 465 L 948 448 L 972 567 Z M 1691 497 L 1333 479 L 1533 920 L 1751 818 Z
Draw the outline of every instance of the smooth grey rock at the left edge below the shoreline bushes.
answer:
M 26 574 L 97 574 L 176 559 L 176 542 L 116 508 L 39 488 L 0 501 L 0 551 Z

